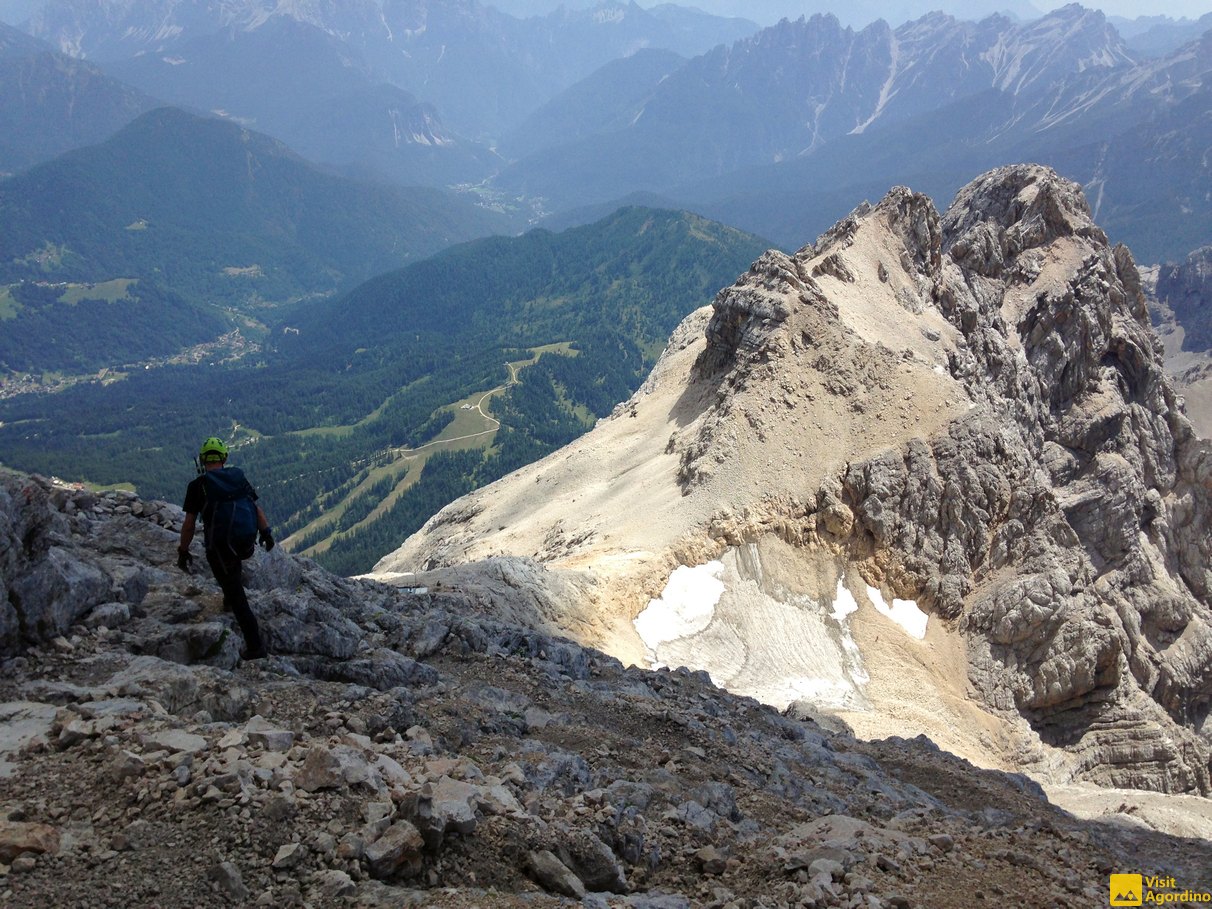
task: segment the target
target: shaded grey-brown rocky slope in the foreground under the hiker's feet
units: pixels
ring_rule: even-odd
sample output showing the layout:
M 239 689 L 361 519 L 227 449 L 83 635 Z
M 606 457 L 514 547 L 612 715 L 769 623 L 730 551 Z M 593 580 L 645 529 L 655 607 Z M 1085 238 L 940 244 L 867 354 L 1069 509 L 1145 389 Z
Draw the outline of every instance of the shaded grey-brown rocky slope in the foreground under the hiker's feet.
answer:
M 0 476 L 5 905 L 1085 909 L 1110 873 L 1212 884 L 1207 841 L 624 669 L 536 630 L 525 591 L 505 623 L 454 583 L 261 554 L 275 656 L 239 663 L 218 589 L 172 564 L 179 519 Z

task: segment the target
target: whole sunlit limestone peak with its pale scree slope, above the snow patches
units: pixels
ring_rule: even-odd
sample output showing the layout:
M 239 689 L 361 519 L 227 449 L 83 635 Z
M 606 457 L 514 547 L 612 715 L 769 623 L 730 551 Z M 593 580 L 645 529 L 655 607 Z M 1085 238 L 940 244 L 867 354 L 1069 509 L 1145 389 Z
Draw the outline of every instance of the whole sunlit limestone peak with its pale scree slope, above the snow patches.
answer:
M 585 439 L 382 567 L 532 558 L 593 578 L 576 610 L 631 619 L 674 567 L 777 539 L 781 596 L 861 578 L 916 602 L 962 648 L 933 678 L 1068 773 L 1210 791 L 1212 451 L 1077 185 L 1005 167 L 943 215 L 896 188 L 765 255 L 675 339 Z M 556 531 L 573 542 L 545 547 Z M 691 650 L 743 661 L 770 634 L 743 624 Z

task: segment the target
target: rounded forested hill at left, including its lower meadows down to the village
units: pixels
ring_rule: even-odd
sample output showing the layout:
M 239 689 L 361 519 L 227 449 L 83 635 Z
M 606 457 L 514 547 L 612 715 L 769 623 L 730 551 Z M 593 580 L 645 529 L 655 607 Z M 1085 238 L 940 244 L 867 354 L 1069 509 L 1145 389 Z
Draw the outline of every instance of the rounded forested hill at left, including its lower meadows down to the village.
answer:
M 0 366 L 93 370 L 170 354 L 233 314 L 271 322 L 510 223 L 442 190 L 337 177 L 267 136 L 161 108 L 0 183 Z M 98 299 L 88 286 L 114 281 L 128 288 L 120 303 L 87 307 L 87 319 L 59 305 Z

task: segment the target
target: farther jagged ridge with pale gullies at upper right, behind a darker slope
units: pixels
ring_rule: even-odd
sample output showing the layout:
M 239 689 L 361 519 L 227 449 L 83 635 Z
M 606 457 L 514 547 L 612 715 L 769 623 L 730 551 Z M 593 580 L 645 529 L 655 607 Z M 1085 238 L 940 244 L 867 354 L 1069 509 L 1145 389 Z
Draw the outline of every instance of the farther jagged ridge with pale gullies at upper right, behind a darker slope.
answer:
M 856 32 L 833 16 L 783 21 L 690 61 L 627 128 L 522 161 L 502 184 L 583 199 L 718 177 L 807 156 L 988 90 L 1030 95 L 1062 75 L 1128 59 L 1105 18 L 1077 6 L 1025 25 L 932 15 L 896 30 L 880 21 Z M 598 168 L 605 179 L 593 177 Z

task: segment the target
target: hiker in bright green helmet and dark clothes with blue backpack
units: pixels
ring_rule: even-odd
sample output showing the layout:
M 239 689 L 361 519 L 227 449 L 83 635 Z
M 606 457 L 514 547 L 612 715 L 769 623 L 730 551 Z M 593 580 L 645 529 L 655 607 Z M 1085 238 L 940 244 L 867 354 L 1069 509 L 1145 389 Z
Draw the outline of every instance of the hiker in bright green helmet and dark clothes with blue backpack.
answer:
M 223 605 L 235 614 L 244 633 L 245 648 L 240 657 L 262 659 L 268 652 L 244 591 L 241 561 L 252 558 L 257 541 L 267 553 L 273 549 L 274 534 L 265 513 L 257 504 L 257 491 L 240 468 L 227 467 L 227 456 L 228 447 L 219 439 L 211 436 L 202 442 L 200 473 L 185 487 L 185 521 L 181 525 L 177 544 L 177 567 L 189 573 L 194 562 L 189 544 L 194 539 L 198 515 L 201 515 L 206 561 L 223 589 Z

